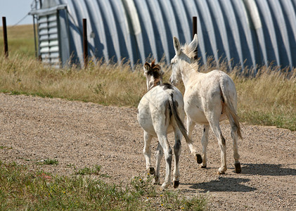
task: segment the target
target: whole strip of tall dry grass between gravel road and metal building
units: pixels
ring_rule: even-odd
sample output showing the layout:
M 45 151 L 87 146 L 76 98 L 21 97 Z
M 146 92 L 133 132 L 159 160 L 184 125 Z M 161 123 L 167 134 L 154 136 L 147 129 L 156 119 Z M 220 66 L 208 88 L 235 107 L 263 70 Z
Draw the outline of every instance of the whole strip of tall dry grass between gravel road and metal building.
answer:
M 164 81 L 170 67 L 162 65 Z M 209 61 L 200 70 L 217 67 Z M 226 64 L 220 70 L 227 72 Z M 247 70 L 246 72 L 252 72 Z M 238 114 L 243 122 L 275 125 L 296 130 L 296 70 L 285 72 L 263 67 L 256 77 L 245 77 L 236 67 L 229 73 L 238 91 Z M 85 70 L 78 68 L 45 68 L 39 61 L 26 56 L 0 58 L 0 90 L 11 94 L 30 94 L 46 97 L 91 101 L 103 105 L 136 107 L 146 93 L 143 67 L 131 72 L 129 65 L 108 64 L 101 60 L 89 63 Z M 179 86 L 184 91 L 183 86 Z

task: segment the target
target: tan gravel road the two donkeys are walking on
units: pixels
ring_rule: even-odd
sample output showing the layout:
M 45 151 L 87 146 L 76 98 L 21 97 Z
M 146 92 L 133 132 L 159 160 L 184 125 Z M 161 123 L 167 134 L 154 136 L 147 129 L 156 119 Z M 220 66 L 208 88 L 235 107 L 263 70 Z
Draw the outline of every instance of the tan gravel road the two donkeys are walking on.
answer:
M 243 124 L 244 139 L 238 142 L 242 174 L 236 174 L 229 124 L 222 123 L 221 129 L 228 146 L 225 175 L 217 174 L 220 151 L 212 132 L 207 169 L 198 167 L 182 140 L 179 190 L 184 196 L 208 196 L 211 210 L 296 210 L 296 132 Z M 142 136 L 136 108 L 0 94 L 4 162 L 53 174 L 101 165 L 101 173 L 110 176 L 107 181 L 128 183 L 132 177 L 146 177 Z M 202 127 L 196 126 L 193 140 L 200 151 L 201 136 Z M 153 152 L 156 146 L 153 139 Z M 58 165 L 37 165 L 45 159 L 56 159 Z M 161 167 L 163 181 L 164 160 Z

